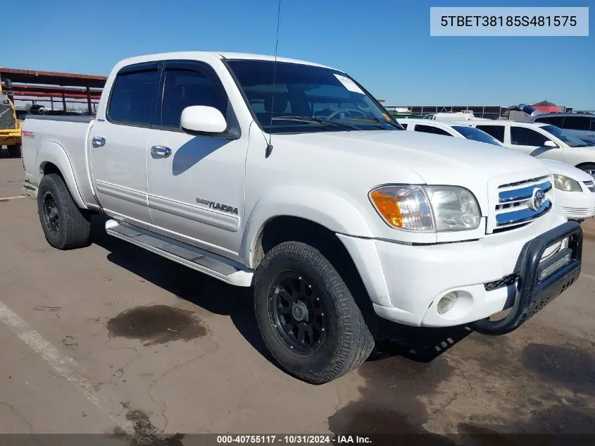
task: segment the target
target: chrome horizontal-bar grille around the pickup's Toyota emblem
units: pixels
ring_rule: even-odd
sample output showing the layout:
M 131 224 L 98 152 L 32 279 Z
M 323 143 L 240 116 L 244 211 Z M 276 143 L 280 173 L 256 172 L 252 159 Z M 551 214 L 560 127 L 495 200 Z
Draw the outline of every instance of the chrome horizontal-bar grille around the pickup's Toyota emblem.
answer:
M 549 176 L 499 186 L 496 204 L 496 228 L 514 228 L 517 225 L 530 223 L 548 212 L 553 204 L 547 195 L 539 209 L 532 209 L 532 206 L 530 206 L 535 189 L 549 192 L 551 190 Z

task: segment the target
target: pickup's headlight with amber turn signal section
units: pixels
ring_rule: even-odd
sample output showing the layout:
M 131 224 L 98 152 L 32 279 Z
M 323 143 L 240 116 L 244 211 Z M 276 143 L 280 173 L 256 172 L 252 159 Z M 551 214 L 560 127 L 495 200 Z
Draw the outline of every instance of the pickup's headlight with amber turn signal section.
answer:
M 384 221 L 404 230 L 471 230 L 481 221 L 477 200 L 463 187 L 385 186 L 372 190 L 370 201 Z

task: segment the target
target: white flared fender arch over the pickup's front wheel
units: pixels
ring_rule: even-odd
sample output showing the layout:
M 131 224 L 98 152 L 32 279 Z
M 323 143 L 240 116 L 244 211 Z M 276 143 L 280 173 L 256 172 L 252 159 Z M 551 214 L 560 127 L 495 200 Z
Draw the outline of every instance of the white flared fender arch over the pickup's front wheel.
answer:
M 268 221 L 281 216 L 313 221 L 334 233 L 357 237 L 374 236 L 366 216 L 346 197 L 310 187 L 275 187 L 258 199 L 246 221 L 239 252 L 244 264 L 253 268 L 258 235 Z

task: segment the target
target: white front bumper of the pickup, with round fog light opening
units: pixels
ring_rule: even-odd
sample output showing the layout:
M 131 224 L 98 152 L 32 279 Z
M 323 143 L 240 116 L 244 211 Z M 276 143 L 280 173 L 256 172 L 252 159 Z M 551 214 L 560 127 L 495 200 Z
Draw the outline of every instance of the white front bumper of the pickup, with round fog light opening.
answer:
M 580 225 L 564 220 L 558 219 L 559 225 L 553 229 L 537 228 L 534 223 L 509 233 L 461 243 L 413 246 L 346 235 L 339 238 L 351 254 L 379 316 L 410 326 L 445 327 L 481 321 L 499 313 L 516 302 L 521 297 L 520 291 L 527 287 L 532 297 L 547 295 L 548 300 L 544 297 L 543 302 L 559 295 L 562 287 L 572 283 L 580 273 L 582 256 Z M 534 237 L 540 232 L 539 237 Z M 560 238 L 560 234 L 565 235 Z M 544 252 L 555 255 L 553 249 L 561 249 L 560 241 L 569 237 L 570 264 L 539 283 L 527 276 L 525 271 L 534 271 Z M 535 253 L 539 252 L 535 264 Z M 515 274 L 513 280 L 502 280 Z M 500 280 L 498 286 L 496 282 Z M 439 314 L 439 299 L 449 292 L 456 292 L 456 304 Z M 527 292 L 522 295 L 523 309 L 527 306 Z M 525 316 L 516 317 L 522 323 L 528 318 Z

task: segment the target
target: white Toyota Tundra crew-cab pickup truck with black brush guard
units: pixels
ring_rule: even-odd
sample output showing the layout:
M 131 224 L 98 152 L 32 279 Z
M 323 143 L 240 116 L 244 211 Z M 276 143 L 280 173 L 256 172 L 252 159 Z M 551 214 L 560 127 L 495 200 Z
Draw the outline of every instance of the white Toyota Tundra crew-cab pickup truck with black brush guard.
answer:
M 265 345 L 309 383 L 361 364 L 377 316 L 500 335 L 577 279 L 549 170 L 476 144 L 403 131 L 341 70 L 211 52 L 120 61 L 96 119 L 23 125 L 52 246 L 88 244 L 103 211 L 107 233 L 253 287 Z

